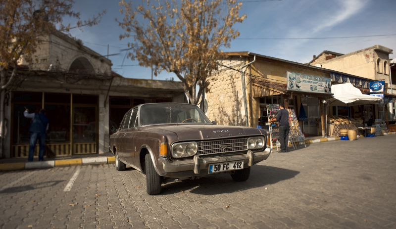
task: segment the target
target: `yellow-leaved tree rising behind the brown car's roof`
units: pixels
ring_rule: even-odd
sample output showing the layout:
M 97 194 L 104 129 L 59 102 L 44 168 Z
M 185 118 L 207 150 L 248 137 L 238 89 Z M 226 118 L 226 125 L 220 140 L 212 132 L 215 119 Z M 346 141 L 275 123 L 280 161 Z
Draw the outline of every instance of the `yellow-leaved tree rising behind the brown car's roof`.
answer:
M 217 69 L 220 47 L 239 36 L 233 25 L 246 18 L 236 0 L 143 0 L 137 7 L 122 0 L 120 6 L 124 19 L 118 22 L 125 30 L 120 39 L 133 38 L 128 56 L 152 67 L 155 76 L 175 73 L 193 104 Z

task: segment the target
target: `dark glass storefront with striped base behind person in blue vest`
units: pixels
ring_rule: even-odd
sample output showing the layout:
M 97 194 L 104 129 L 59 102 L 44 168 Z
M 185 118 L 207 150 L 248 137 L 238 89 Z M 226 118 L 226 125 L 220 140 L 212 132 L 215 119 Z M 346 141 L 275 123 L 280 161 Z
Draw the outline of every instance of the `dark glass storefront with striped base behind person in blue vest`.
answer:
M 55 155 L 98 152 L 98 95 L 46 92 L 12 92 L 12 157 L 29 153 L 30 122 L 25 107 L 38 113 L 44 108 L 50 120 L 47 146 Z M 36 153 L 39 145 L 36 146 Z

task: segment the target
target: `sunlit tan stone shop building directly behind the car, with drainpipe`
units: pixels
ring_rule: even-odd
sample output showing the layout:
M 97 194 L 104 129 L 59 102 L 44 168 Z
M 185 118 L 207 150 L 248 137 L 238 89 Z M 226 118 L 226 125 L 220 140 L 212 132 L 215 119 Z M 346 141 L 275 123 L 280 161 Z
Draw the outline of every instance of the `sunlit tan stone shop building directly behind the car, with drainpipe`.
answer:
M 226 54 L 227 57 L 218 60 L 219 69 L 212 72 L 205 93 L 208 102 L 208 118 L 217 121 L 219 125 L 246 126 L 247 120 L 248 126 L 256 127 L 259 120 L 266 121 L 266 105 L 285 102 L 298 114 L 302 103 L 308 115 L 305 132 L 316 135 L 316 121 L 321 119 L 323 114 L 321 101 L 330 97 L 331 93 L 321 93 L 315 90 L 310 92 L 288 90 L 288 73 L 319 77 L 330 82 L 331 74 L 336 72 L 370 81 L 343 72 L 251 52 L 227 52 Z M 253 61 L 254 56 L 256 60 L 244 69 L 245 79 L 242 80 L 240 68 Z M 246 85 L 247 116 L 242 82 Z

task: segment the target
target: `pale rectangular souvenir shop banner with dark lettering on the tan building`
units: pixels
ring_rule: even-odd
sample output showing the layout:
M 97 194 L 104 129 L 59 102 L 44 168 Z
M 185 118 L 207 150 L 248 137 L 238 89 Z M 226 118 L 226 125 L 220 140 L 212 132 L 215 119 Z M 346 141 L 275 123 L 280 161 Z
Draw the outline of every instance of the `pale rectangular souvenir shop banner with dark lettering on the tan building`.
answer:
M 288 91 L 331 93 L 331 79 L 287 72 Z

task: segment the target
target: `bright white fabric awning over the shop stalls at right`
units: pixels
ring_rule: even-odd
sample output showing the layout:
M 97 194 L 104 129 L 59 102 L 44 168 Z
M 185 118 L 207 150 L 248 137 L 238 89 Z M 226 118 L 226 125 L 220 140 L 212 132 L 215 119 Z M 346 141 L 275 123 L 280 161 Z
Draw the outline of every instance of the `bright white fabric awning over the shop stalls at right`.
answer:
M 333 97 L 327 99 L 330 106 L 376 104 L 382 99 L 362 94 L 362 92 L 353 87 L 351 83 L 332 85 L 331 92 L 334 93 Z

